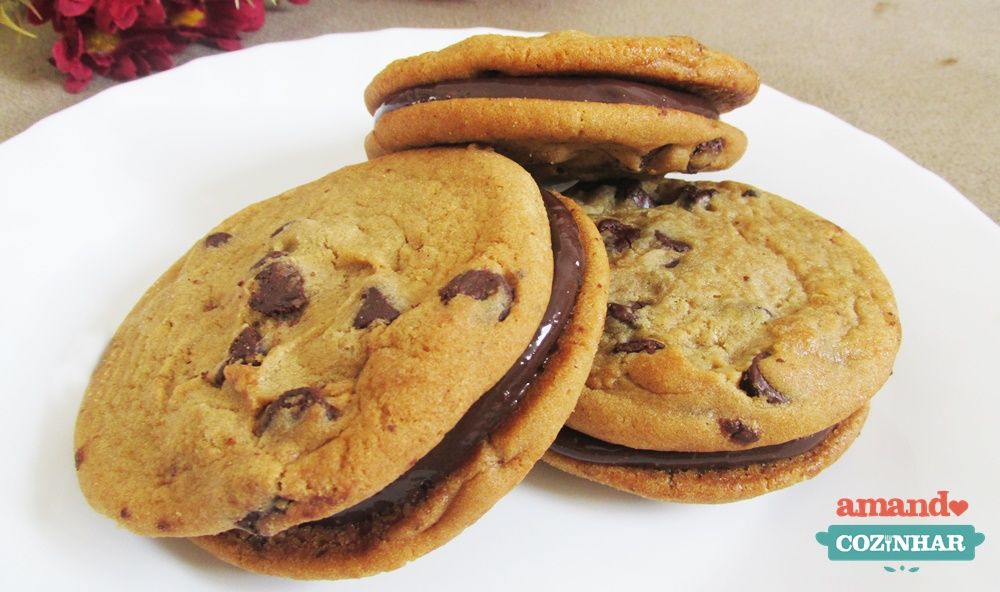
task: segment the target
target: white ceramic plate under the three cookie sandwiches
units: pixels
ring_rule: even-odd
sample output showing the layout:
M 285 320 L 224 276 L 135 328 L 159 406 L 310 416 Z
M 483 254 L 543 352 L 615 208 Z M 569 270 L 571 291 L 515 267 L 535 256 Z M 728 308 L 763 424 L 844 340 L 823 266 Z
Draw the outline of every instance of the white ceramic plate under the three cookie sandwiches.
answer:
M 353 582 L 252 575 L 91 511 L 72 430 L 103 345 L 145 288 L 243 206 L 364 158 L 362 89 L 390 60 L 473 31 L 331 35 L 196 60 L 111 88 L 0 145 L 0 589 L 986 589 L 1000 536 L 1000 229 L 937 176 L 770 88 L 726 116 L 733 178 L 840 224 L 881 263 L 903 347 L 864 433 L 816 479 L 724 506 L 646 501 L 537 467 L 445 547 Z M 842 497 L 969 502 L 972 562 L 831 562 Z M 910 520 L 912 522 L 912 520 Z M 546 588 L 547 586 L 547 588 Z

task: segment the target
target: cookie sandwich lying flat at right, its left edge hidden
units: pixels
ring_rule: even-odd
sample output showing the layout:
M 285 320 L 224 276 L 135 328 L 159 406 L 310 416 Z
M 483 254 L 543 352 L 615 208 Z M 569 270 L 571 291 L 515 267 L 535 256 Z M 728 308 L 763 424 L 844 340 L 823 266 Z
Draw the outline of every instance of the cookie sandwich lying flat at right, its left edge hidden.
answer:
M 892 290 L 837 225 L 740 183 L 580 184 L 611 289 L 545 461 L 641 496 L 727 502 L 808 479 L 892 371 Z

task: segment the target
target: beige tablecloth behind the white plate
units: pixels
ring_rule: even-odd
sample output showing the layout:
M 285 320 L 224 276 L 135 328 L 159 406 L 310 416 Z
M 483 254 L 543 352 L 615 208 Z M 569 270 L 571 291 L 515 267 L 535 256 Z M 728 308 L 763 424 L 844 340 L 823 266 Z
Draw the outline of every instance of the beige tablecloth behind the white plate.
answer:
M 995 0 L 312 0 L 271 11 L 245 41 L 404 26 L 692 35 L 746 60 L 765 83 L 885 139 L 1000 221 Z M 37 41 L 0 34 L 0 140 L 112 84 L 65 93 L 46 61 L 54 37 L 38 32 Z M 191 48 L 181 61 L 209 53 Z

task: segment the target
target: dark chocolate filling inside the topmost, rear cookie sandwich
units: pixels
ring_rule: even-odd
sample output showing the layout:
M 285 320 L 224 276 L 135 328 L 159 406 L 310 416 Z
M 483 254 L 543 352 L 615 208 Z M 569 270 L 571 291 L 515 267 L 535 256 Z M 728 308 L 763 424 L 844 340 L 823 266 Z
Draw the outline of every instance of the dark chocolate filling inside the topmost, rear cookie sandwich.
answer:
M 627 103 L 679 109 L 710 119 L 719 111 L 708 99 L 655 84 L 620 78 L 499 77 L 449 80 L 402 90 L 388 97 L 375 119 L 410 105 L 447 99 L 549 99 L 593 103 Z

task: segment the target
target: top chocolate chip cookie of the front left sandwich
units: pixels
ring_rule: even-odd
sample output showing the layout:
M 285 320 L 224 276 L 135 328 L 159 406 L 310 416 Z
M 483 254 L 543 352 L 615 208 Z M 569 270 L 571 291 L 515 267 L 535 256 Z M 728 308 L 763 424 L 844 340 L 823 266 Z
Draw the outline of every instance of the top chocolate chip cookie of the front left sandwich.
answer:
M 84 494 L 152 536 L 350 507 L 504 375 L 551 285 L 538 187 L 489 152 L 393 155 L 254 204 L 107 347 L 76 426 Z

